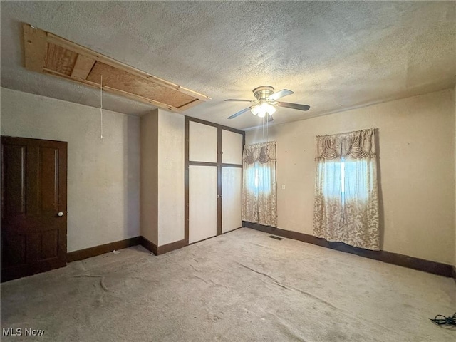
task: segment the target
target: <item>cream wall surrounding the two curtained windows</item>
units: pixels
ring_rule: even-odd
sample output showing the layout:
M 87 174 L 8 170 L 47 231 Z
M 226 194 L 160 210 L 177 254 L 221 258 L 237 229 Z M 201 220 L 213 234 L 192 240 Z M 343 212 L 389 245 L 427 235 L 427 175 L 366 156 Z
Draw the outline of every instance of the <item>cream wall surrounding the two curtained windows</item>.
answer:
M 315 135 L 378 128 L 383 249 L 452 264 L 455 259 L 453 90 L 269 128 L 277 142 L 279 228 L 312 234 Z M 276 115 L 281 115 L 278 110 Z M 305 115 L 303 113 L 303 115 Z M 262 130 L 247 132 L 247 144 Z M 281 185 L 286 185 L 282 190 Z

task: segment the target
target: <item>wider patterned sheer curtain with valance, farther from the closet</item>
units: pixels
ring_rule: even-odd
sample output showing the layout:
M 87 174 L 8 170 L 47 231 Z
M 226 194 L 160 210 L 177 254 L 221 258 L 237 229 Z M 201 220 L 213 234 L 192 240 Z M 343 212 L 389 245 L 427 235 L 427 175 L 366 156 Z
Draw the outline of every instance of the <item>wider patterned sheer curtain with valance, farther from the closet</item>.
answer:
M 316 137 L 316 237 L 380 249 L 375 132 Z

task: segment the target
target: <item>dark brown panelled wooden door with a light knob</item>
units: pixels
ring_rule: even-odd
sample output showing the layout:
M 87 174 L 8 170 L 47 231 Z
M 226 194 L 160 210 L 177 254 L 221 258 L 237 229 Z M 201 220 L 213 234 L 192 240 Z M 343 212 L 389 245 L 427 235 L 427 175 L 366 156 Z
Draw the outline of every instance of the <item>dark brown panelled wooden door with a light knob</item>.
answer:
M 66 265 L 67 143 L 1 137 L 1 281 Z

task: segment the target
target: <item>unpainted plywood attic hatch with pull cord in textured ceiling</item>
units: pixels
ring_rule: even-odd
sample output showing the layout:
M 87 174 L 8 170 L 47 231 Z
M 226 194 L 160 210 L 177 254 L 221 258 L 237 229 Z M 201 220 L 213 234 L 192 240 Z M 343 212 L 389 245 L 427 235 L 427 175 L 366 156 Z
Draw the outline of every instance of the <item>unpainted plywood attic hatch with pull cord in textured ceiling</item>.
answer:
M 182 112 L 206 95 L 152 76 L 52 33 L 23 24 L 25 66 L 28 70 L 66 78 L 133 100 Z

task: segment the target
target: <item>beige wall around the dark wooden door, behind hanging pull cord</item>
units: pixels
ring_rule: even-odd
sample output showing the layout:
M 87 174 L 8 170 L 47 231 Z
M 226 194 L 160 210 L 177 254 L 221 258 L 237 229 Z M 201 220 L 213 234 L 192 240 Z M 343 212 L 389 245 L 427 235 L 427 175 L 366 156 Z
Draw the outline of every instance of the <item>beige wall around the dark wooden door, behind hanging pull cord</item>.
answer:
M 68 252 L 139 231 L 139 119 L 1 88 L 1 134 L 68 142 Z

